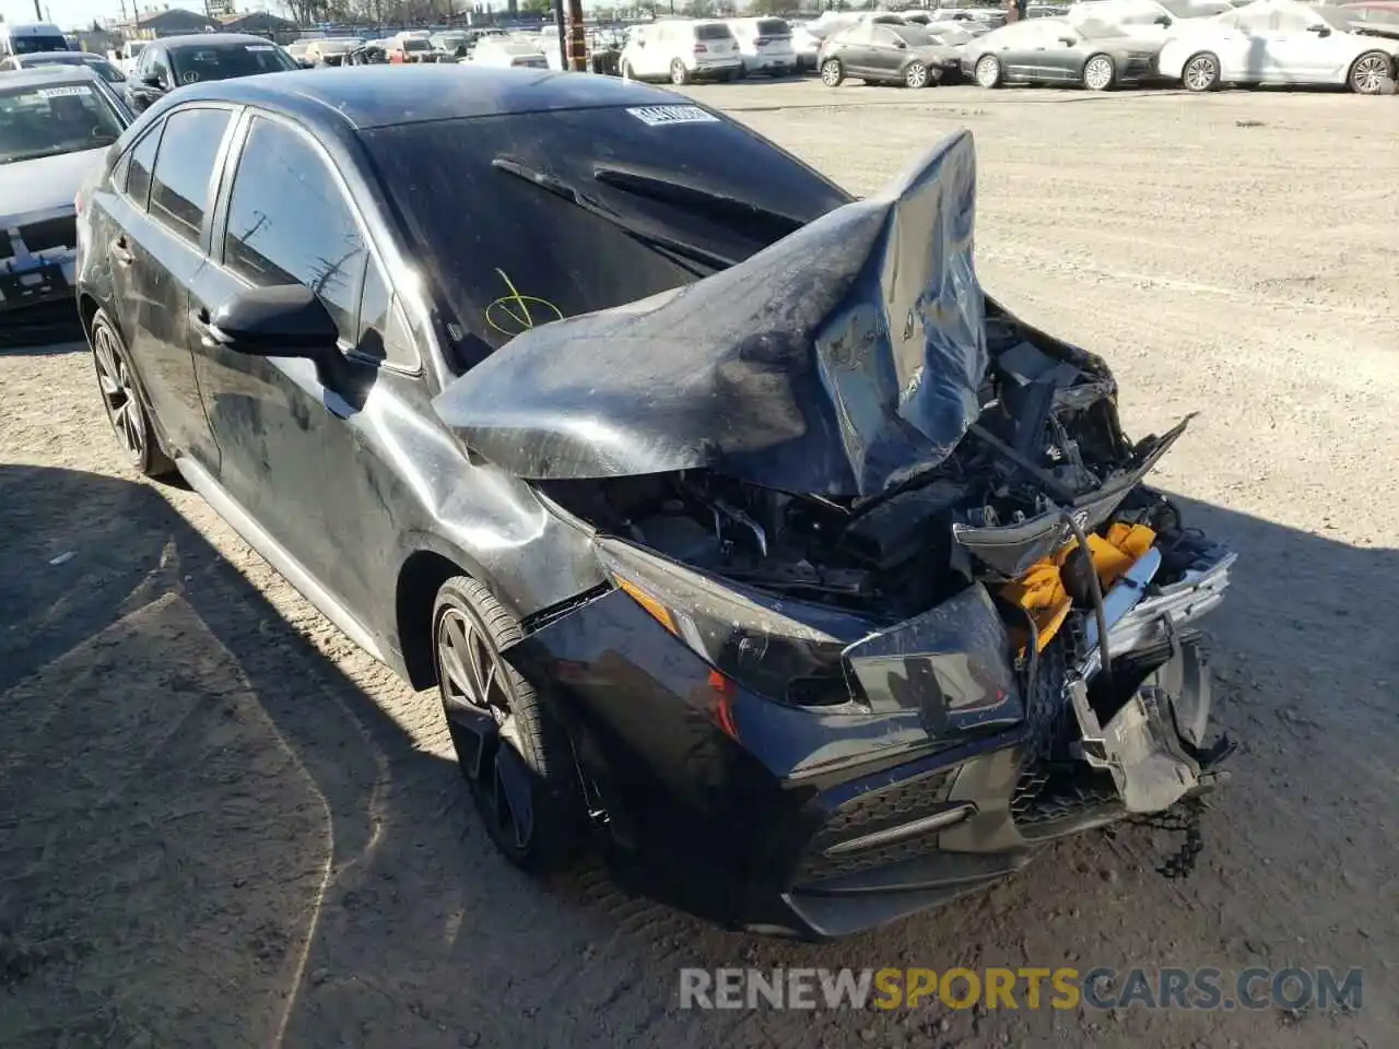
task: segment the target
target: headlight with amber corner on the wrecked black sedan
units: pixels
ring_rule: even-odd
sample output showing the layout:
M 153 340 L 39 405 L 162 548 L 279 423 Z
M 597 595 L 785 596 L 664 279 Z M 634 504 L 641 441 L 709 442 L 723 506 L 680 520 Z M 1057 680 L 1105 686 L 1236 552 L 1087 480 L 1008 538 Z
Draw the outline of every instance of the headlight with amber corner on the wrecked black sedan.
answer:
M 869 632 L 838 610 L 723 583 L 623 540 L 597 540 L 623 593 L 725 677 L 769 699 L 835 706 L 860 698 L 846 646 Z

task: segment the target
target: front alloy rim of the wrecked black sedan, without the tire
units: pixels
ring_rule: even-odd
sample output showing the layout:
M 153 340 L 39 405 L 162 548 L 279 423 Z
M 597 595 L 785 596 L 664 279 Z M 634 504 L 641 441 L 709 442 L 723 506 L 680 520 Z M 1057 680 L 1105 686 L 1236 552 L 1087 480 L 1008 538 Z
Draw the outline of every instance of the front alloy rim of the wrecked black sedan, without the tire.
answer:
M 523 850 L 533 836 L 534 804 L 499 656 L 464 611 L 445 608 L 436 660 L 448 726 L 459 752 L 466 747 L 474 754 L 474 761 L 462 762 L 462 772 L 492 831 Z

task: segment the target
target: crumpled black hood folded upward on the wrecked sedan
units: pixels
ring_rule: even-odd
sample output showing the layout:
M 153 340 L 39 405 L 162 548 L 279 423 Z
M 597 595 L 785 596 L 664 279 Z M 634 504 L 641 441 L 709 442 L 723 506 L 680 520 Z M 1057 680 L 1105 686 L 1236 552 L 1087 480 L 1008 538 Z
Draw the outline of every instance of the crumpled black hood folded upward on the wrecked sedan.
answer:
M 988 364 L 970 131 L 743 263 L 532 329 L 434 407 L 530 480 L 711 469 L 869 495 L 947 457 Z

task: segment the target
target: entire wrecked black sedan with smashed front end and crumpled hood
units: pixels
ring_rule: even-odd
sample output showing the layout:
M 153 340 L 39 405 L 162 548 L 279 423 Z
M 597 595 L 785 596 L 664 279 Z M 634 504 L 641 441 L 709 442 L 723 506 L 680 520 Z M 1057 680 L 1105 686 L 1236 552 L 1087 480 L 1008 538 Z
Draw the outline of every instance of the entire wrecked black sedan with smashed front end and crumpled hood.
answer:
M 179 92 L 84 201 L 133 463 L 439 690 L 520 866 L 837 936 L 1219 780 L 1234 555 L 1143 484 L 1185 424 L 1129 441 L 982 292 L 970 134 L 853 200 L 637 84 L 292 73 Z

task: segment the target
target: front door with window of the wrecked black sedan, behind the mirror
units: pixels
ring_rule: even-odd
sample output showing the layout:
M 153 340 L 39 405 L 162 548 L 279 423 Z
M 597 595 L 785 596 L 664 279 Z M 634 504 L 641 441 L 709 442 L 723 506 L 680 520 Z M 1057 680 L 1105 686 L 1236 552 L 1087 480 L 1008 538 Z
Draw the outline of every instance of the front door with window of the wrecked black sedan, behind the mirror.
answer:
M 383 420 L 427 414 L 413 336 L 389 267 L 329 154 L 302 129 L 250 113 L 227 165 L 211 263 L 192 290 L 207 320 L 250 287 L 302 284 L 340 329 L 333 368 L 199 344 L 200 387 L 222 459 L 218 480 L 287 554 L 355 617 L 382 606 L 396 571 L 397 455 Z M 411 403 L 411 407 L 410 404 Z

